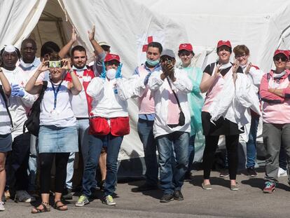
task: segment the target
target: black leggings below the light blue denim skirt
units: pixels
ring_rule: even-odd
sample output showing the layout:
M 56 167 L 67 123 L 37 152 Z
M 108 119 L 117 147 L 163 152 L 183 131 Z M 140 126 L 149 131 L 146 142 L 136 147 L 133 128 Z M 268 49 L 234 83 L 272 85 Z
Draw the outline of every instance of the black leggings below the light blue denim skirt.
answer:
M 67 179 L 67 161 L 69 153 L 41 153 L 40 161 L 40 185 L 41 193 L 50 191 L 50 171 L 55 158 L 55 192 L 62 193 Z

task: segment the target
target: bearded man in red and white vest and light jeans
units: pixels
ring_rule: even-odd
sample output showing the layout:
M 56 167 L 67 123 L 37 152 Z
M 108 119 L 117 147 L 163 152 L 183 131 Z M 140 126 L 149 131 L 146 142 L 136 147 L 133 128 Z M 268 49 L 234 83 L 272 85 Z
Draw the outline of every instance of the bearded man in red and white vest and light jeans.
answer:
M 94 71 L 88 69 L 85 65 L 87 62 L 87 54 L 83 46 L 75 46 L 71 50 L 71 64 L 72 69 L 78 79 L 83 84 L 83 90 L 78 95 L 72 96 L 71 107 L 76 116 L 77 130 L 78 130 L 78 144 L 83 155 L 83 163 L 85 165 L 88 157 L 88 127 L 89 127 L 89 111 L 90 111 L 90 96 L 87 95 L 86 90 L 88 84 L 95 77 Z M 71 81 L 71 75 L 67 74 L 64 80 Z M 67 193 L 62 197 L 66 200 L 72 199 L 72 177 L 74 175 L 74 159 L 75 154 L 71 153 L 67 163 Z M 97 186 L 97 184 L 96 184 Z

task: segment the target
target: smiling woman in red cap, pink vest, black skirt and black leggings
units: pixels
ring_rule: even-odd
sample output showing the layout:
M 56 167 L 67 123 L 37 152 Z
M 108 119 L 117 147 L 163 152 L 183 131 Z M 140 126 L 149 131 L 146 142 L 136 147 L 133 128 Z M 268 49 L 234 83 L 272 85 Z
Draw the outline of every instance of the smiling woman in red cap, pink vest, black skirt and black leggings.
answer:
M 237 175 L 237 146 L 242 130 L 238 128 L 237 123 L 223 117 L 213 123 L 209 108 L 214 100 L 217 99 L 219 93 L 222 93 L 222 90 L 225 89 L 224 84 L 226 81 L 230 81 L 233 78 L 235 83 L 237 73 L 243 73 L 243 71 L 238 62 L 234 64 L 230 62 L 230 54 L 232 53 L 230 41 L 219 41 L 216 46 L 216 53 L 219 56 L 219 60 L 205 67 L 200 83 L 201 92 L 207 93 L 205 104 L 202 107 L 202 129 L 205 135 L 205 151 L 203 153 L 204 181 L 202 182 L 202 188 L 212 189 L 209 175 L 212 170 L 214 153 L 218 146 L 219 136 L 226 135 L 230 189 L 237 190 L 238 187 L 235 180 Z M 232 90 L 232 93 L 234 93 L 234 90 Z

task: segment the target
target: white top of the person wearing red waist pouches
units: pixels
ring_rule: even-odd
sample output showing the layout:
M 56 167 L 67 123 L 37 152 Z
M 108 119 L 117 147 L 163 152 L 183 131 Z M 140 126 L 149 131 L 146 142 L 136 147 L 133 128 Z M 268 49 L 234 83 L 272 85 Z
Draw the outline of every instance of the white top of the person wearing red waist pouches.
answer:
M 92 100 L 90 116 L 114 118 L 128 116 L 127 100 L 117 89 L 116 79 L 108 80 L 95 77 L 87 88 Z

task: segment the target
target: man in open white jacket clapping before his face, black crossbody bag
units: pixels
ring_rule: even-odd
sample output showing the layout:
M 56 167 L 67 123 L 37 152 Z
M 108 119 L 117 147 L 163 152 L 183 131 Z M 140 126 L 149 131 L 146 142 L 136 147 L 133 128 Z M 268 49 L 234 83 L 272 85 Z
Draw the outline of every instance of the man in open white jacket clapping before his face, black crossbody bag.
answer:
M 160 186 L 163 189 L 160 202 L 167 203 L 173 199 L 184 200 L 181 186 L 188 168 L 188 139 L 191 132 L 187 94 L 193 84 L 186 72 L 174 68 L 175 55 L 172 50 L 163 50 L 160 62 L 163 70 L 154 71 L 148 85 L 155 102 L 153 135 L 158 147 Z M 176 164 L 171 161 L 174 154 Z

